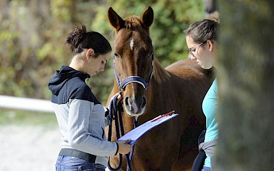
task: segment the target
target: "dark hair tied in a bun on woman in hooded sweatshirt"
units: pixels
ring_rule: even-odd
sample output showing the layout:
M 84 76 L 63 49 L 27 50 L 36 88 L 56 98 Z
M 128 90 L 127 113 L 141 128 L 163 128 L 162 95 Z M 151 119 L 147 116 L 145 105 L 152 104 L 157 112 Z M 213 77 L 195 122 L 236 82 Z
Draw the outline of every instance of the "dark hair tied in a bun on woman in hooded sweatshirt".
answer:
M 86 26 L 83 24 L 72 28 L 71 33 L 66 38 L 66 44 L 69 44 L 73 55 L 81 53 L 84 49 L 93 49 L 95 51 L 94 57 L 112 51 L 110 42 L 103 35 L 96 31 L 86 32 Z

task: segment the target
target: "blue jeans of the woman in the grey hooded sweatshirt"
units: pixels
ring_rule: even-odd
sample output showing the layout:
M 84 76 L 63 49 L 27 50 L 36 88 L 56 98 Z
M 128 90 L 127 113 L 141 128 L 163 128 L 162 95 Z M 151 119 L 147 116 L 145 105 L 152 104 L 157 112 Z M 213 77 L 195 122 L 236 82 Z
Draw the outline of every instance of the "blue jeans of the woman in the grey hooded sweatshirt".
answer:
M 105 166 L 71 156 L 58 156 L 56 171 L 105 171 Z

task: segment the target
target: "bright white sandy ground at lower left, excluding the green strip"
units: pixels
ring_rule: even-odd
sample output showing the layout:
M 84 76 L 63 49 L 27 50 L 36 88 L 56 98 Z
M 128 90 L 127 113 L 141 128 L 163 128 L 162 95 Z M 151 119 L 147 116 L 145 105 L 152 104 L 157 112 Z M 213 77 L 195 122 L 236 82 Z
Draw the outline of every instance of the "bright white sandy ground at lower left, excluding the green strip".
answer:
M 58 127 L 0 127 L 0 170 L 55 170 L 60 150 Z

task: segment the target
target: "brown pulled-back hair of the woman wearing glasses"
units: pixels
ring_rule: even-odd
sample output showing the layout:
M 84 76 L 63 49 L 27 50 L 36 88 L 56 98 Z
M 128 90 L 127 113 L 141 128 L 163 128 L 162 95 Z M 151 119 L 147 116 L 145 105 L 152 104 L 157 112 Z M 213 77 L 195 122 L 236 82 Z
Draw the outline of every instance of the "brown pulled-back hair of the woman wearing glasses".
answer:
M 185 36 L 190 36 L 194 42 L 201 43 L 206 40 L 216 40 L 219 23 L 210 19 L 195 21 L 184 30 Z

